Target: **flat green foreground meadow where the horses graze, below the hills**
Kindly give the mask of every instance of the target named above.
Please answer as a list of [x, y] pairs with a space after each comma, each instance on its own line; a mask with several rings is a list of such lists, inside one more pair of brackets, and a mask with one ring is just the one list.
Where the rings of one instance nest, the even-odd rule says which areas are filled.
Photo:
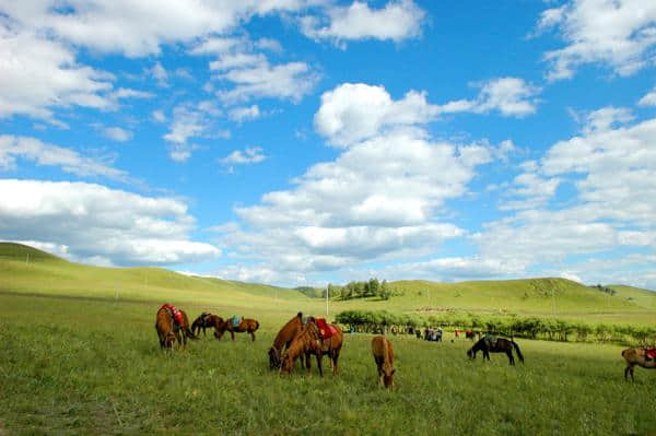
[[[649, 434], [656, 372], [625, 382], [620, 347], [520, 341], [526, 364], [469, 362], [465, 340], [391, 337], [396, 391], [371, 335], [347, 334], [337, 377], [268, 369], [285, 308], [254, 310], [256, 342], [160, 352], [157, 304], [0, 295], [4, 434]], [[232, 307], [231, 307], [232, 308]], [[243, 308], [246, 310], [246, 308]], [[191, 316], [199, 310], [189, 309]], [[313, 366], [314, 363], [313, 363]]]

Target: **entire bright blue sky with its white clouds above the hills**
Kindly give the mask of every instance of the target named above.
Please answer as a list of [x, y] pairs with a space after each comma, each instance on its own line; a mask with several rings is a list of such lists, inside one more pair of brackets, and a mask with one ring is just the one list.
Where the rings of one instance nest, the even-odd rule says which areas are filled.
[[656, 288], [656, 3], [0, 0], [0, 239]]

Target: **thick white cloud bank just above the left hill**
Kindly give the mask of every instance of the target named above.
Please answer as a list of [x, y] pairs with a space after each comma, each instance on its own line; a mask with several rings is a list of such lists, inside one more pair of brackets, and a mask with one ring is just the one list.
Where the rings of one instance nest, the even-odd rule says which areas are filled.
[[189, 239], [194, 217], [177, 199], [83, 182], [14, 179], [0, 179], [0, 239], [65, 247], [69, 258], [112, 264], [174, 264], [221, 255], [212, 245]]

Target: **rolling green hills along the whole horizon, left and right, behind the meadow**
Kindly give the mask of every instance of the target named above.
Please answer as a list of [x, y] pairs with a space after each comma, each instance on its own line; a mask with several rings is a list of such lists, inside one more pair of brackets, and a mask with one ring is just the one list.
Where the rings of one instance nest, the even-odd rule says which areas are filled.
[[[395, 296], [332, 299], [330, 314], [350, 309], [421, 315], [446, 310], [654, 323], [656, 293], [612, 285], [600, 292], [565, 279], [435, 283], [390, 282]], [[305, 291], [305, 292], [304, 292]], [[73, 263], [32, 247], [0, 243], [0, 292], [84, 298], [178, 302], [204, 307], [323, 314], [325, 302], [307, 290], [192, 276], [161, 268], [102, 268]]]

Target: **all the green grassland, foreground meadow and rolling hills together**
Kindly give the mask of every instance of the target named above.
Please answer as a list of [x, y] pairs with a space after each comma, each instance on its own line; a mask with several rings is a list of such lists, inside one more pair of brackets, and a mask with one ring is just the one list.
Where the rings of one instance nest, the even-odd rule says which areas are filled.
[[[652, 295], [629, 287], [613, 286], [611, 296], [560, 279], [391, 285], [403, 295], [333, 301], [330, 311], [551, 316], [555, 301], [571, 316], [654, 322]], [[191, 318], [207, 308], [255, 317], [257, 340], [208, 334], [186, 351], [163, 353], [153, 326], [165, 301]], [[505, 355], [468, 361], [471, 343], [450, 332], [443, 343], [390, 337], [397, 389], [387, 391], [375, 382], [372, 335], [345, 334], [337, 377], [329, 370], [318, 377], [314, 361], [312, 375], [297, 368], [281, 377], [268, 368], [273, 337], [298, 310], [321, 314], [321, 299], [155, 268], [81, 266], [10, 244], [0, 244], [0, 435], [646, 435], [656, 428], [656, 372], [637, 368], [635, 384], [624, 381], [617, 345], [518, 340], [526, 363], [511, 367]]]

